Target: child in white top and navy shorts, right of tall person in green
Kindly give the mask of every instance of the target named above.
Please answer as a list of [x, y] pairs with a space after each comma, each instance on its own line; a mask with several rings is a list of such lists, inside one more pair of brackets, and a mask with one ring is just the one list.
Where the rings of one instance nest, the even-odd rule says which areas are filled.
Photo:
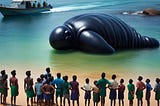
[[109, 95], [109, 99], [111, 100], [111, 106], [114, 102], [114, 106], [116, 105], [116, 97], [117, 97], [117, 88], [118, 88], [118, 83], [116, 81], [116, 75], [113, 74], [112, 75], [112, 80], [110, 81], [111, 84], [109, 85], [109, 89], [110, 89], [110, 95]]

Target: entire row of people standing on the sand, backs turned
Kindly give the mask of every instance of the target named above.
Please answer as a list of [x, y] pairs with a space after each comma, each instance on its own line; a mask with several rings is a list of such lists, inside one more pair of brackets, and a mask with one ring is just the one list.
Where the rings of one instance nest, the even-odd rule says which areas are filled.
[[[16, 70], [11, 71], [11, 75], [12, 77], [9, 79], [11, 105], [16, 105], [16, 97], [19, 95], [19, 84], [18, 79], [16, 78]], [[145, 89], [145, 99], [147, 101], [147, 106], [150, 106], [152, 89], [155, 92], [155, 100], [157, 101], [157, 106], [159, 106], [159, 78], [156, 78], [156, 84], [154, 88], [152, 88], [150, 79], [146, 79], [145, 84], [143, 82], [142, 76], [138, 77], [136, 86], [133, 84], [132, 79], [129, 79], [127, 86], [124, 85], [124, 79], [120, 79], [120, 83], [118, 84], [115, 74], [112, 75], [111, 80], [108, 80], [105, 77], [106, 74], [103, 72], [101, 74], [101, 78], [97, 81], [94, 81], [94, 86], [90, 84], [89, 78], [86, 78], [85, 84], [82, 87], [79, 87], [80, 85], [77, 81], [76, 75], [72, 76], [72, 81], [68, 81], [68, 76], [61, 77], [61, 73], [57, 73], [57, 76], [54, 79], [50, 72], [50, 68], [48, 67], [46, 68], [45, 74], [41, 74], [34, 84], [33, 78], [31, 77], [31, 71], [26, 71], [26, 78], [24, 79], [24, 90], [27, 96], [27, 106], [29, 106], [29, 103], [33, 105], [35, 98], [37, 106], [41, 106], [42, 104], [45, 104], [46, 106], [65, 106], [66, 104], [68, 104], [68, 106], [71, 106], [70, 100], [72, 101], [72, 106], [75, 106], [75, 102], [77, 106], [79, 106], [80, 89], [85, 92], [85, 106], [90, 106], [91, 96], [94, 106], [98, 106], [99, 102], [101, 106], [105, 106], [106, 89], [110, 90], [110, 106], [116, 106], [117, 98], [119, 100], [119, 106], [124, 106], [124, 91], [126, 90], [126, 87], [128, 90], [129, 106], [133, 106], [133, 99], [135, 98], [135, 96], [137, 98], [137, 106], [143, 105], [143, 91]], [[6, 74], [5, 70], [2, 70], [0, 76], [1, 104], [6, 104], [8, 89], [8, 75]]]

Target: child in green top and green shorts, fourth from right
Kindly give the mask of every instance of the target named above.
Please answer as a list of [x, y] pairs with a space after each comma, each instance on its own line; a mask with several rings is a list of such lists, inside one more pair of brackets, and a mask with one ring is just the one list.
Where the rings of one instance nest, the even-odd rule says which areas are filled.
[[133, 99], [134, 99], [134, 92], [135, 92], [135, 86], [132, 83], [133, 83], [133, 80], [129, 79], [129, 84], [127, 85], [129, 106], [133, 106]]

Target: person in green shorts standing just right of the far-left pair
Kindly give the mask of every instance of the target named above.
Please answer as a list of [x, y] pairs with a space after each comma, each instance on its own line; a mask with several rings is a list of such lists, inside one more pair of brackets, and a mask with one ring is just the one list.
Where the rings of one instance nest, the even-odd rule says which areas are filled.
[[10, 88], [11, 88], [11, 105], [13, 105], [13, 100], [14, 100], [14, 105], [16, 105], [16, 96], [18, 96], [18, 79], [15, 77], [16, 76], [16, 70], [11, 71], [12, 77], [10, 78]]

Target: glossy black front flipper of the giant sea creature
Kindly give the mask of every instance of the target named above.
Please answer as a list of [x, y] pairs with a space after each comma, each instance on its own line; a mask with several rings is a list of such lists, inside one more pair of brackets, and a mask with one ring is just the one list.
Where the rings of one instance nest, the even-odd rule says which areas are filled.
[[79, 38], [80, 48], [83, 51], [107, 54], [115, 52], [115, 49], [96, 32], [82, 31]]

